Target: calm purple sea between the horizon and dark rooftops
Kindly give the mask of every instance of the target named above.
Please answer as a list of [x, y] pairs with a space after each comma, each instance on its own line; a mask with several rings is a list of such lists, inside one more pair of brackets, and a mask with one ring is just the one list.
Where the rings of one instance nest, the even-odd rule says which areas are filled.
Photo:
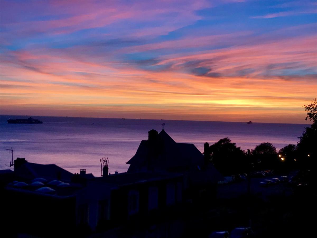
[[[87, 169], [100, 175], [101, 157], [109, 158], [109, 172], [125, 172], [126, 162], [135, 154], [148, 131], [165, 131], [176, 141], [194, 143], [203, 152], [204, 142], [217, 142], [229, 137], [242, 149], [254, 149], [261, 142], [271, 142], [280, 149], [298, 141], [305, 124], [277, 124], [246, 122], [200, 122], [172, 120], [139, 120], [111, 118], [77, 118], [34, 116], [43, 124], [8, 124], [9, 118], [0, 116], [0, 169], [8, 169], [11, 154], [25, 157], [29, 162], [55, 163], [72, 173]], [[11, 168], [12, 169], [12, 168]]]

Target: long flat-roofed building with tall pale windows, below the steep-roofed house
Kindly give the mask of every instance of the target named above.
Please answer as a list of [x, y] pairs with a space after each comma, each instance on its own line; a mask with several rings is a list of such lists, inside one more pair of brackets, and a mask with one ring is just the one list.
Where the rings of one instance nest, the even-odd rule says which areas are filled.
[[[144, 224], [164, 221], [182, 202], [182, 175], [168, 173], [120, 173], [94, 178], [92, 184], [112, 184], [108, 218], [98, 221], [98, 229], [113, 224], [128, 225], [141, 230]], [[144, 222], [146, 221], [146, 222]], [[127, 234], [123, 234], [126, 237]]]

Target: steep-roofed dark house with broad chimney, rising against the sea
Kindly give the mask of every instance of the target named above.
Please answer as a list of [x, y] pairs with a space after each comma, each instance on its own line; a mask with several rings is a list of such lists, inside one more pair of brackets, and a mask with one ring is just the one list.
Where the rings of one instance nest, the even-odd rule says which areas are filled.
[[[209, 146], [204, 144], [205, 148]], [[149, 131], [148, 140], [142, 140], [135, 155], [126, 162], [128, 173], [168, 172], [184, 176], [185, 190], [209, 189], [214, 193], [215, 185], [223, 180], [222, 175], [193, 144], [175, 142], [164, 129], [160, 133]]]

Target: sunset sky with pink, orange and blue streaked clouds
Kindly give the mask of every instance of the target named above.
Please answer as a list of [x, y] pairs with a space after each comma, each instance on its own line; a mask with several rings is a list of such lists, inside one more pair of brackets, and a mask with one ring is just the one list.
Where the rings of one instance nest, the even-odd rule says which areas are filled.
[[307, 123], [317, 2], [0, 1], [0, 114]]

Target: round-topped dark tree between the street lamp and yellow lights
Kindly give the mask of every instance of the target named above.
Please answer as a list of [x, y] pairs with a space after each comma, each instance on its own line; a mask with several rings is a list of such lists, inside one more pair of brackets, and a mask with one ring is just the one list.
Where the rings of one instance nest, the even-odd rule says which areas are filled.
[[258, 144], [251, 153], [258, 162], [258, 169], [275, 169], [279, 162], [276, 148], [269, 142]]

